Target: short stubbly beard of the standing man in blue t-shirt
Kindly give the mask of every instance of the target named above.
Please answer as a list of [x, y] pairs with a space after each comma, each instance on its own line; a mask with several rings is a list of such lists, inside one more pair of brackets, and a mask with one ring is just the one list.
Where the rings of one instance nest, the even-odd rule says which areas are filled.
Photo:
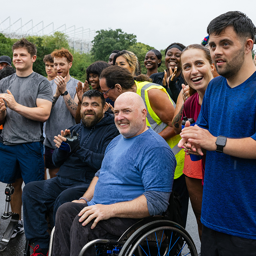
[[225, 78], [235, 77], [240, 70], [241, 66], [245, 61], [245, 52], [244, 49], [241, 48], [237, 54], [237, 56], [233, 57], [230, 62], [225, 63], [225, 68], [218, 68], [217, 63], [215, 62], [215, 67], [220, 76], [224, 76]]

